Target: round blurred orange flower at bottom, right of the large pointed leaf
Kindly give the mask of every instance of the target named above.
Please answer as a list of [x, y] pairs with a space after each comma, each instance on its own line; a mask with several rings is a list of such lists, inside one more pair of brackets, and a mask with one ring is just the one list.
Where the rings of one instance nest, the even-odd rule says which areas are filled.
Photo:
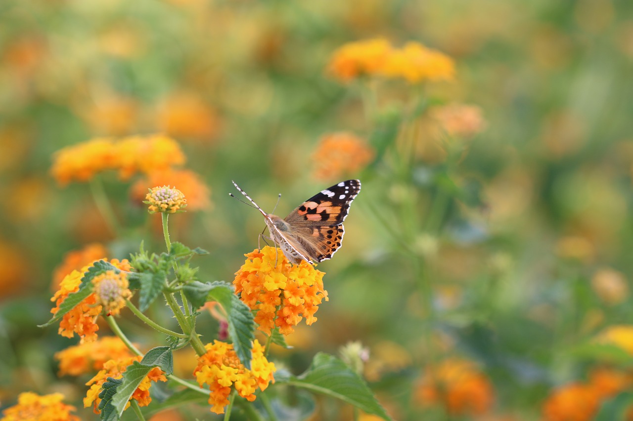
[[473, 362], [450, 358], [427, 367], [415, 397], [424, 406], [442, 405], [451, 415], [481, 415], [491, 408], [494, 391]]

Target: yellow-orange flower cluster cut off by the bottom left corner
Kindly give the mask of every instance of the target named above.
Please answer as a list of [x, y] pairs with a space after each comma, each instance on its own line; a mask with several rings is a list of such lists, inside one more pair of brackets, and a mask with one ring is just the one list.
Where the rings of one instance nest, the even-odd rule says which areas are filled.
[[63, 399], [61, 393], [20, 393], [18, 403], [6, 408], [0, 421], [79, 421], [79, 417], [70, 414], [76, 408], [62, 403]]

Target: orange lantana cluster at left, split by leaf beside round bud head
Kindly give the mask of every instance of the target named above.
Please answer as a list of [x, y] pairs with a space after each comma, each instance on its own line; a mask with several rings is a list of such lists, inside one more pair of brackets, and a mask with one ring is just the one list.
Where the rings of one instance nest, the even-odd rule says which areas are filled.
[[[110, 263], [122, 271], [130, 271], [131, 269], [127, 259], [121, 261], [112, 259]], [[81, 271], [72, 271], [61, 281], [60, 290], [51, 298], [51, 301], [55, 302], [55, 307], [51, 310], [51, 313], [57, 314], [60, 310], [60, 304], [66, 297], [79, 290], [81, 279], [87, 270], [88, 266], [85, 266]], [[76, 333], [81, 338], [80, 343], [95, 341], [99, 330], [96, 319], [101, 314], [101, 310], [103, 310], [103, 307], [97, 303], [97, 296], [94, 293], [87, 296], [61, 318], [60, 335], [72, 338]]]

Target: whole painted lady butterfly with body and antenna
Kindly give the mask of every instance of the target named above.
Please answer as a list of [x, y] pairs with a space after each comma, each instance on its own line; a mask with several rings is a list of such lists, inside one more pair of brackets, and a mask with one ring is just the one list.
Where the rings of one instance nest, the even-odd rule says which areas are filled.
[[313, 265], [332, 258], [341, 248], [343, 221], [349, 205], [360, 192], [359, 180], [346, 180], [309, 198], [281, 219], [267, 214], [233, 181], [233, 185], [248, 198], [264, 216], [266, 226], [275, 241], [292, 263], [305, 260]]

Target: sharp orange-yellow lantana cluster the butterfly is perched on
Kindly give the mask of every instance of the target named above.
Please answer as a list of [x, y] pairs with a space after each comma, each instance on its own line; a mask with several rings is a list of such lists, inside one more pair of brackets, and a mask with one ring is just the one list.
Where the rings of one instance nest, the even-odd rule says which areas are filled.
[[280, 248], [266, 246], [245, 256], [233, 283], [241, 300], [257, 310], [254, 320], [260, 331], [270, 334], [278, 326], [287, 335], [303, 317], [308, 325], [316, 321], [318, 305], [323, 298], [328, 300], [323, 289], [325, 273], [303, 260], [291, 265]]

